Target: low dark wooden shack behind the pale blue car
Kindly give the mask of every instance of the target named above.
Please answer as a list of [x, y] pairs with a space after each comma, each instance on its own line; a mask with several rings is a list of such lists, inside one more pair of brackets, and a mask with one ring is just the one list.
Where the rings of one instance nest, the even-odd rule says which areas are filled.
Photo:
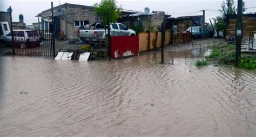
[[204, 22], [203, 15], [197, 16], [181, 16], [177, 18], [169, 18], [166, 20], [166, 29], [171, 29], [173, 26], [173, 32], [186, 31], [190, 26], [201, 26]]

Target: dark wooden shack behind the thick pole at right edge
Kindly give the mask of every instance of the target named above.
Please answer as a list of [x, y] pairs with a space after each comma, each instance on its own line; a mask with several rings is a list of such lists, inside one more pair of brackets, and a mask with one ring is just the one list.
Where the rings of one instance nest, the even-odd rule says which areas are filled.
[[[235, 24], [237, 15], [227, 15], [226, 18], [226, 39], [235, 38]], [[243, 39], [248, 39], [250, 31], [256, 32], [256, 13], [242, 15]]]

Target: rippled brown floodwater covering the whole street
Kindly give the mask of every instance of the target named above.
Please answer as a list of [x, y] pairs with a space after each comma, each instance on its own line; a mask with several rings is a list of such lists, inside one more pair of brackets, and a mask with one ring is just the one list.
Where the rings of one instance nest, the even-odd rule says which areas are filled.
[[190, 56], [0, 57], [0, 136], [255, 136], [256, 71]]

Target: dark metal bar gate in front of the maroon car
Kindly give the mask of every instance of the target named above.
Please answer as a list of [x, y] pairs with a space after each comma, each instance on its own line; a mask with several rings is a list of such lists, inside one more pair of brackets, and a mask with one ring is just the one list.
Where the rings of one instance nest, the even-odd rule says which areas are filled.
[[49, 30], [12, 31], [13, 52], [24, 56], [55, 56], [53, 33]]

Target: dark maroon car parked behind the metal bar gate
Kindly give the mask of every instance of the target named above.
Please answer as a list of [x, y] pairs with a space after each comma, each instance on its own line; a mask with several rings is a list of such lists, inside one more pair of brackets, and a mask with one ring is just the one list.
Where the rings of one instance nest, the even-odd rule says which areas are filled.
[[[20, 47], [25, 49], [31, 46], [40, 46], [41, 36], [35, 30], [14, 30], [12, 31], [14, 35], [14, 45], [15, 47]], [[11, 32], [5, 36], [4, 42], [6, 45], [12, 45]]]

